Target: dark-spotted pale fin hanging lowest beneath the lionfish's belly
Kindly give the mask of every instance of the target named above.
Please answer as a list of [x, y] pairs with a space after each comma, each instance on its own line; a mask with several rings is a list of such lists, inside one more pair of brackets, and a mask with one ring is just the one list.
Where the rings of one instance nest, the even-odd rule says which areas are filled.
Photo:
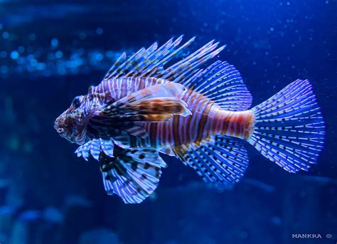
[[166, 164], [155, 149], [115, 147], [114, 157], [100, 154], [105, 191], [117, 194], [124, 203], [144, 201], [158, 186], [162, 167]]

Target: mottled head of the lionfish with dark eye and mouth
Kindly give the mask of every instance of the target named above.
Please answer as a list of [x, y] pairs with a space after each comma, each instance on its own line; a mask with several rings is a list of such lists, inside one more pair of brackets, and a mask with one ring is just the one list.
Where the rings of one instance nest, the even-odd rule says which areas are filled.
[[54, 128], [61, 137], [69, 142], [83, 144], [87, 132], [88, 103], [86, 96], [74, 98], [68, 110], [65, 110], [56, 120]]

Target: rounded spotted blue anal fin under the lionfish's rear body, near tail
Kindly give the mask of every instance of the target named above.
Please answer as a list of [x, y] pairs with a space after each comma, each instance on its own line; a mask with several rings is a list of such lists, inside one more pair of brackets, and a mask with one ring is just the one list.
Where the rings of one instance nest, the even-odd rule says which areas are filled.
[[200, 144], [174, 147], [173, 152], [208, 182], [233, 184], [241, 179], [248, 166], [245, 147], [232, 137], [213, 136]]

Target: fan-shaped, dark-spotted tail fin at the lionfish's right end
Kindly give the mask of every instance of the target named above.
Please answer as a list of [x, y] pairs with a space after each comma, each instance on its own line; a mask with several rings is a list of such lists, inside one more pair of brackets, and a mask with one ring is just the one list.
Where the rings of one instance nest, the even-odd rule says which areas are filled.
[[264, 157], [291, 173], [316, 164], [325, 130], [309, 80], [294, 81], [252, 111], [255, 127], [248, 142]]

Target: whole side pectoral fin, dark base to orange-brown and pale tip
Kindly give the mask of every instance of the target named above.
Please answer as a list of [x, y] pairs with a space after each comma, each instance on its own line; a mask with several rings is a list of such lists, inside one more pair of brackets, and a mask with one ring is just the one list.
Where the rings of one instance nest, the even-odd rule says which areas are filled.
[[186, 102], [180, 99], [185, 87], [166, 83], [153, 85], [132, 93], [121, 100], [103, 105], [90, 119], [90, 126], [99, 134], [120, 134], [146, 137], [144, 122], [171, 120], [173, 115], [188, 116]]

